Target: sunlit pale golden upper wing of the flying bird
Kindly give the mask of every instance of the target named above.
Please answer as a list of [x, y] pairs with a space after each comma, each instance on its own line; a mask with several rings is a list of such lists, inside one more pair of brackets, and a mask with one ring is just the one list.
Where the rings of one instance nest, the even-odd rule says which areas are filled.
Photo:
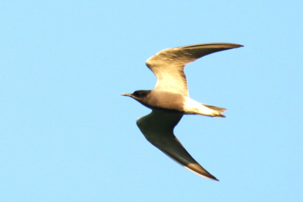
[[146, 65], [157, 77], [156, 90], [179, 93], [189, 97], [183, 71], [184, 66], [202, 56], [239, 47], [242, 45], [208, 43], [168, 48], [148, 58]]

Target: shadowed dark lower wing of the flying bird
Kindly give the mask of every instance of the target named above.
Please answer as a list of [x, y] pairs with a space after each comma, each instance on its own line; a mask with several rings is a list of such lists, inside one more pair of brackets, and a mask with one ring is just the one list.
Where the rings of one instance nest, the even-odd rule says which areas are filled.
[[207, 172], [191, 157], [175, 137], [173, 130], [182, 116], [183, 114], [179, 112], [153, 110], [150, 114], [139, 118], [137, 125], [151, 144], [171, 157], [178, 164], [202, 177], [217, 180], [217, 178]]

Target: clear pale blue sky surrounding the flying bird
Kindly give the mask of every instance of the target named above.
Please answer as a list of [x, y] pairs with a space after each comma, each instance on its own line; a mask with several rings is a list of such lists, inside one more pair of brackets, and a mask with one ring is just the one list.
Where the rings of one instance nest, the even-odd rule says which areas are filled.
[[[1, 1], [1, 201], [302, 201], [302, 1]], [[245, 47], [186, 66], [175, 135], [220, 182], [146, 141], [145, 61], [178, 46]]]

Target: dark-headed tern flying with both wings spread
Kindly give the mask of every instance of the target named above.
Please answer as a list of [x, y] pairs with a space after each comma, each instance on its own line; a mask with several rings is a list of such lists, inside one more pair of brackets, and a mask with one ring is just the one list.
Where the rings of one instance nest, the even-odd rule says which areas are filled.
[[150, 114], [138, 118], [136, 122], [151, 144], [178, 164], [211, 180], [219, 181], [185, 150], [174, 135], [174, 127], [184, 114], [224, 118], [222, 113], [226, 109], [202, 104], [189, 98], [184, 66], [205, 55], [239, 47], [242, 45], [207, 43], [162, 50], [146, 61], [147, 67], [157, 77], [155, 88], [121, 94], [134, 98], [152, 110]]

